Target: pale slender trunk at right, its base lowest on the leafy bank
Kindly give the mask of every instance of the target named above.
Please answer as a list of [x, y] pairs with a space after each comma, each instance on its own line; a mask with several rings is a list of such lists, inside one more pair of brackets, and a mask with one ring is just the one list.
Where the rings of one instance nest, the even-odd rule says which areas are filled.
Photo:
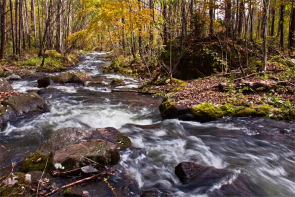
[[266, 42], [267, 42], [267, 18], [268, 18], [268, 11], [269, 11], [269, 1], [270, 0], [263, 0], [263, 70], [266, 71], [267, 69], [267, 47], [266, 47]]

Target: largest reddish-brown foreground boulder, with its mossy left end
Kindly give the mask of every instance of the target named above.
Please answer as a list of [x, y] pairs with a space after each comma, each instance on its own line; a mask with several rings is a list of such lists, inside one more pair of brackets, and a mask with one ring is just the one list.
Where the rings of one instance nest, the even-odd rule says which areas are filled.
[[[96, 170], [89, 164], [93, 164], [98, 171], [101, 165], [116, 164], [119, 159], [118, 151], [130, 146], [130, 139], [111, 127], [60, 129], [54, 131], [47, 142], [21, 162], [20, 170], [25, 173], [43, 170], [48, 158], [45, 171], [52, 172], [53, 175], [89, 173], [91, 170], [95, 172]], [[101, 165], [96, 165], [85, 158]], [[78, 170], [65, 173], [75, 168]]]

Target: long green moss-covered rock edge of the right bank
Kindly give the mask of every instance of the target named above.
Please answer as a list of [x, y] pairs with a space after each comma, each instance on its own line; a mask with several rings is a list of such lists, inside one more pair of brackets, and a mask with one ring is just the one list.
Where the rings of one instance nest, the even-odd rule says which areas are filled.
[[231, 103], [211, 104], [201, 103], [192, 107], [177, 105], [172, 99], [164, 99], [160, 105], [163, 118], [178, 118], [181, 120], [193, 120], [200, 122], [213, 121], [222, 117], [266, 117], [273, 119], [295, 120], [295, 109], [276, 108], [268, 104], [248, 104], [236, 106]]

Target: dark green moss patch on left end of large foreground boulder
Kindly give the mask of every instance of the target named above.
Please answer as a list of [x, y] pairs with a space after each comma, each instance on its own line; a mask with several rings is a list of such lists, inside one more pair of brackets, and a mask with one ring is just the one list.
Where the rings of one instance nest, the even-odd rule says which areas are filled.
[[23, 161], [20, 164], [20, 171], [25, 173], [33, 170], [43, 171], [46, 165], [47, 157], [49, 158], [45, 171], [49, 172], [53, 168], [53, 157], [52, 155], [46, 156], [39, 152], [35, 152], [32, 156]]

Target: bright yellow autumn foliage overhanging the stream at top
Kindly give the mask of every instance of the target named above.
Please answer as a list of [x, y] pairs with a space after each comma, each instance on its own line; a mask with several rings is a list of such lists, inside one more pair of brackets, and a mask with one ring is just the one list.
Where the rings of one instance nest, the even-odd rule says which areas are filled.
[[152, 11], [142, 9], [138, 0], [81, 0], [81, 17], [88, 16], [89, 25], [85, 30], [69, 35], [71, 43], [95, 43], [109, 39], [118, 41], [122, 31], [126, 34], [148, 36], [151, 31]]

